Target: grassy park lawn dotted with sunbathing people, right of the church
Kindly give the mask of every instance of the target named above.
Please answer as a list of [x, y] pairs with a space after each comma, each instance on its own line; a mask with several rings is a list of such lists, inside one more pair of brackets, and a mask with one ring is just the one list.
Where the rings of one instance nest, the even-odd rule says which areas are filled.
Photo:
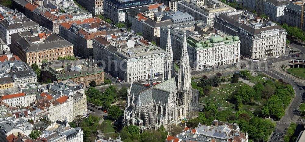
[[235, 91], [236, 87], [241, 86], [243, 83], [228, 83], [222, 84], [218, 87], [212, 87], [211, 94], [209, 96], [201, 97], [199, 103], [206, 104], [207, 102], [212, 102], [218, 107], [232, 108], [235, 104], [228, 103], [228, 98]]

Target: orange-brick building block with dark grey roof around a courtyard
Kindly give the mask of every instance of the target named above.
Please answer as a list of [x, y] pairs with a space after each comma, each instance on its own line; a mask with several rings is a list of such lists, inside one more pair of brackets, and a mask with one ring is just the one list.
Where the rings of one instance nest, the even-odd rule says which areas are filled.
[[11, 38], [12, 52], [29, 65], [74, 56], [73, 44], [43, 27], [14, 33]]

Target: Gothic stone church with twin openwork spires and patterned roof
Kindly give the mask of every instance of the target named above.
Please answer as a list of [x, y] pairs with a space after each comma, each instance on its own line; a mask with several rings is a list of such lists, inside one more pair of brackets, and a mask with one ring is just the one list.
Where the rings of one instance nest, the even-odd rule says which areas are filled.
[[197, 111], [199, 92], [192, 90], [191, 87], [186, 35], [184, 35], [178, 76], [174, 76], [170, 33], [167, 41], [163, 82], [153, 86], [153, 71], [151, 71], [150, 86], [131, 83], [131, 87], [127, 88], [123, 126], [135, 125], [143, 131], [158, 129], [163, 125], [169, 130], [172, 124], [189, 118], [190, 112]]

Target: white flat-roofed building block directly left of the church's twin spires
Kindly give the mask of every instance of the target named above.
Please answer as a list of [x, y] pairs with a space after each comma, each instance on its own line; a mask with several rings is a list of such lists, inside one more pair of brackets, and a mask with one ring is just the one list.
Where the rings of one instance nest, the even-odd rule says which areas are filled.
[[126, 82], [149, 79], [151, 64], [153, 75], [162, 74], [165, 51], [153, 45], [137, 43], [140, 44], [132, 48], [118, 47], [103, 37], [97, 37], [93, 40], [93, 59], [103, 61], [106, 71]]

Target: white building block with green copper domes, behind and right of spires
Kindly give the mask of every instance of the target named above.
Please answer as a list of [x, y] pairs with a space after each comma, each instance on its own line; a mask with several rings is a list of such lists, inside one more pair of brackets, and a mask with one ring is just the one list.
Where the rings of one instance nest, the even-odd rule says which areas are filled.
[[165, 39], [169, 31], [175, 60], [180, 59], [177, 57], [181, 54], [180, 45], [183, 43], [183, 30], [187, 30], [188, 55], [192, 68], [197, 70], [239, 62], [241, 43], [239, 37], [211, 29], [203, 21], [172, 25], [170, 28], [161, 27], [160, 47], [166, 47], [167, 41]]

